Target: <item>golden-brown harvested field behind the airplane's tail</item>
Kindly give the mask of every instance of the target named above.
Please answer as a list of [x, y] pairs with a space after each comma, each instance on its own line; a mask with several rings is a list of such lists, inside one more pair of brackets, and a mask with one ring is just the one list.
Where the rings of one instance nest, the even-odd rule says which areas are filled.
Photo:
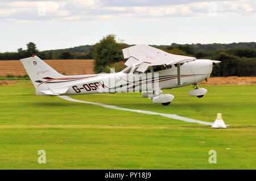
[[[93, 74], [94, 60], [46, 60], [53, 69], [65, 75]], [[19, 60], [0, 61], [0, 76], [27, 74]]]

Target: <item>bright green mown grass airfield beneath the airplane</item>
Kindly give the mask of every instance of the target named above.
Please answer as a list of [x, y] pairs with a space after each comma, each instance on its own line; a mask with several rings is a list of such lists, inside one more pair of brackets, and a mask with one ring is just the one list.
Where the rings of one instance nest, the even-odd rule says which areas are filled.
[[0, 86], [0, 169], [256, 169], [256, 85], [200, 87], [201, 99], [191, 86], [164, 90], [175, 95], [169, 106], [140, 93], [71, 97], [208, 122], [221, 112], [229, 128], [36, 96], [30, 81]]

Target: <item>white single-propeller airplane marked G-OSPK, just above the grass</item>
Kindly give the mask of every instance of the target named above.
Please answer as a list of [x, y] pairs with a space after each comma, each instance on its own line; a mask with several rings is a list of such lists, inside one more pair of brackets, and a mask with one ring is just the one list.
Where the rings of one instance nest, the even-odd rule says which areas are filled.
[[[135, 45], [123, 49], [127, 68], [118, 73], [67, 76], [57, 73], [37, 56], [21, 59], [36, 95], [77, 95], [142, 91], [143, 97], [153, 103], [167, 106], [174, 99], [162, 89], [193, 85], [190, 96], [203, 97], [207, 90], [197, 83], [212, 73], [216, 60], [198, 60], [195, 57], [170, 54], [148, 45]], [[79, 66], [79, 65], [77, 65]]]

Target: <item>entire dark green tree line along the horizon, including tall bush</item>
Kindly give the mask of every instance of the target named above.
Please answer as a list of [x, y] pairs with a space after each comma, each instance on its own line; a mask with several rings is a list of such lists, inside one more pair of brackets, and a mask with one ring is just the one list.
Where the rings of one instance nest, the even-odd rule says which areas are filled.
[[[256, 48], [254, 42], [233, 44], [171, 44], [151, 45], [168, 53], [192, 56], [200, 59], [221, 61], [213, 68], [212, 76], [255, 76]], [[96, 73], [109, 72], [110, 68], [120, 71], [123, 65], [122, 49], [132, 45], [117, 43], [114, 35], [103, 37], [95, 45], [85, 45], [69, 49], [39, 51], [32, 42], [27, 49], [19, 48], [17, 52], [0, 53], [0, 60], [19, 60], [36, 54], [43, 60], [51, 59], [94, 59]]]

